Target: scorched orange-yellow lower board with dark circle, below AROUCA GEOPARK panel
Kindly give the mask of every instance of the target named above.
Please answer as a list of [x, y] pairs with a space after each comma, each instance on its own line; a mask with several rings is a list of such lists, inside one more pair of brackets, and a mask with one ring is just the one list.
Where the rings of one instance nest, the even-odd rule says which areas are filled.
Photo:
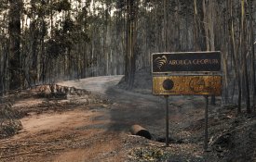
[[221, 95], [222, 76], [183, 75], [153, 77], [153, 94]]

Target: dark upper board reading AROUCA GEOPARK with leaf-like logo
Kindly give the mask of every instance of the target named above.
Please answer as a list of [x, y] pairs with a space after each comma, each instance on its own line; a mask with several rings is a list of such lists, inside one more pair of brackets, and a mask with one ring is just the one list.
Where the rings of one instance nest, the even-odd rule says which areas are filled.
[[218, 72], [221, 71], [221, 63], [218, 51], [155, 53], [152, 54], [152, 73]]

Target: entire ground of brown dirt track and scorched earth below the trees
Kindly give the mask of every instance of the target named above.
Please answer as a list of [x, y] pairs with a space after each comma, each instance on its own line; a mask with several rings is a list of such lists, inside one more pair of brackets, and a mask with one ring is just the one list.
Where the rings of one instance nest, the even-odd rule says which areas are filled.
[[[122, 76], [106, 76], [60, 82], [61, 96], [46, 86], [9, 99], [22, 127], [0, 140], [0, 161], [256, 161], [255, 114], [237, 116], [221, 98], [209, 106], [205, 152], [204, 97], [169, 97], [165, 147], [165, 100], [151, 94], [150, 71], [137, 75], [129, 91]], [[131, 135], [133, 124], [152, 140]]]

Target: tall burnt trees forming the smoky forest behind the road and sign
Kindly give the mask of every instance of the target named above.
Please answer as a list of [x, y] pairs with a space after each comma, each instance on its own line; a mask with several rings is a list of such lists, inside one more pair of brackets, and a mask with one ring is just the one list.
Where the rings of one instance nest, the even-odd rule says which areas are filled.
[[1, 95], [117, 74], [131, 89], [152, 53], [221, 51], [223, 102], [255, 107], [254, 0], [1, 0], [0, 13]]

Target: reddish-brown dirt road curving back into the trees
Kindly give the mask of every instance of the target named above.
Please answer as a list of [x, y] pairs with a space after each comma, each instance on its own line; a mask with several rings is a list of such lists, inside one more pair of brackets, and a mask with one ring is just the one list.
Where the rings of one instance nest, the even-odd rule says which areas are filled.
[[[130, 136], [128, 130], [133, 124], [140, 124], [152, 132], [155, 140], [163, 139], [164, 98], [116, 89], [114, 85], [121, 78], [106, 76], [60, 82], [60, 85], [101, 94], [110, 102], [31, 113], [21, 119], [23, 129], [19, 134], [0, 141], [0, 161], [126, 161], [131, 150], [143, 143], [163, 145]], [[170, 136], [177, 141], [188, 139], [192, 134], [185, 128], [203, 118], [202, 99], [193, 100], [183, 96], [170, 98]], [[194, 150], [198, 159], [203, 155], [201, 146], [202, 143], [185, 145]], [[176, 150], [173, 152], [182, 153], [181, 145], [171, 147]]]

